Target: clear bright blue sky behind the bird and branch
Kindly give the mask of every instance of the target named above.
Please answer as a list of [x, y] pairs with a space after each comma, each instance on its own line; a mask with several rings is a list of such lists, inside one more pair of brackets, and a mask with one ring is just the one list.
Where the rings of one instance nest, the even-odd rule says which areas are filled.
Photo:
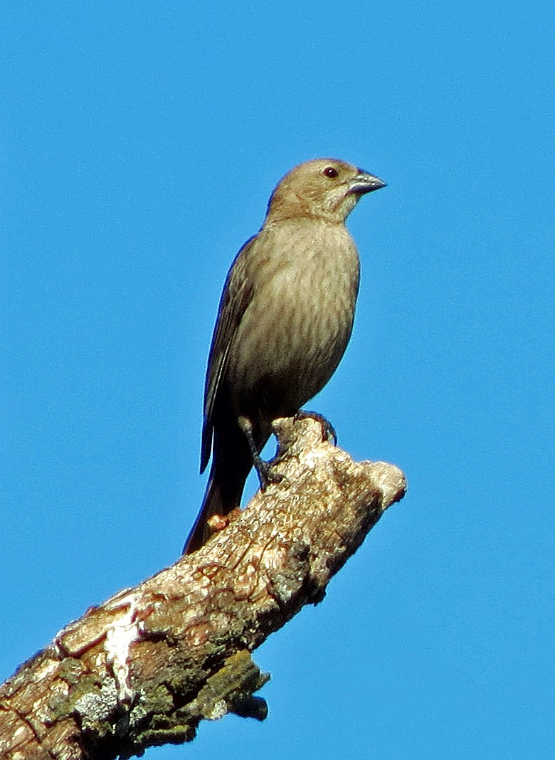
[[310, 407], [408, 496], [256, 653], [268, 720], [147, 757], [553, 756], [553, 16], [5, 2], [2, 678], [179, 555], [227, 268], [331, 155], [388, 186]]

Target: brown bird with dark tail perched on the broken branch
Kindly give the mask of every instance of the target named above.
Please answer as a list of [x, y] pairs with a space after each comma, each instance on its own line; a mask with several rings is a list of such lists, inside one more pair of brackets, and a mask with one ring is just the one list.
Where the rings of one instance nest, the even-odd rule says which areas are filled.
[[362, 195], [385, 182], [350, 163], [319, 158], [291, 169], [264, 224], [227, 274], [208, 357], [201, 473], [210, 479], [183, 549], [211, 535], [207, 519], [239, 506], [277, 417], [293, 416], [335, 372], [353, 328], [357, 248], [345, 227]]

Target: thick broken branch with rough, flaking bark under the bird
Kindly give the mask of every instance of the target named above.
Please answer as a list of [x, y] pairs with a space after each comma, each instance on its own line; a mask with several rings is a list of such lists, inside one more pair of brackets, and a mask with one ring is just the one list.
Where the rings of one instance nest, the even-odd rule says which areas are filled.
[[198, 552], [62, 629], [0, 688], [0, 758], [107, 760], [191, 741], [203, 718], [262, 720], [250, 652], [305, 604], [406, 489], [316, 420], [276, 420], [281, 483]]

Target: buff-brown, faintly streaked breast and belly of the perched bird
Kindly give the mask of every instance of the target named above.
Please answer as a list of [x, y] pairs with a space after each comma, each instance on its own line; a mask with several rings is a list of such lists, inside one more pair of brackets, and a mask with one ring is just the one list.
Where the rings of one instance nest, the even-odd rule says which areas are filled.
[[272, 230], [254, 253], [246, 268], [252, 299], [227, 379], [239, 410], [262, 400], [278, 416], [306, 404], [338, 366], [353, 327], [359, 258], [344, 225], [322, 223]]

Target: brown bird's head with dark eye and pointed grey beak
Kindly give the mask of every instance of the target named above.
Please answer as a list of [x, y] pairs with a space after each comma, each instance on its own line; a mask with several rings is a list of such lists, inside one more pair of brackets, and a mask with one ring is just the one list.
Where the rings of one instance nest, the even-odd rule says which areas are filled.
[[385, 186], [379, 177], [335, 158], [300, 163], [287, 173], [271, 194], [268, 221], [316, 217], [342, 223], [361, 195]]

